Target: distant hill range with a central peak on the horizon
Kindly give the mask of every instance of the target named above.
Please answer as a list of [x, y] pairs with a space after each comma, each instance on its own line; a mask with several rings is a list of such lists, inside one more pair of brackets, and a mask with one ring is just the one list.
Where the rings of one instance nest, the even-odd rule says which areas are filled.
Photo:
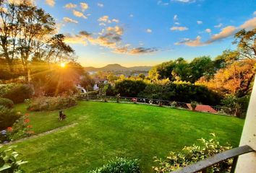
[[133, 66], [133, 67], [124, 67], [120, 64], [108, 64], [101, 68], [95, 68], [92, 66], [85, 67], [85, 71], [149, 71], [152, 66]]

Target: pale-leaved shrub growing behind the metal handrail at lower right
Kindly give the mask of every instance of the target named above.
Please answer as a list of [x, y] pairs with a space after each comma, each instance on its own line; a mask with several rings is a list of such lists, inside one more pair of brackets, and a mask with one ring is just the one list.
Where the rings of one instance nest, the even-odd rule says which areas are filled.
[[[158, 166], [153, 167], [154, 171], [157, 173], [172, 172], [232, 148], [229, 145], [221, 146], [214, 133], [211, 133], [211, 136], [213, 138], [208, 141], [203, 138], [199, 139], [202, 143], [201, 146], [196, 146], [195, 144], [193, 146], [185, 146], [182, 152], [170, 152], [166, 159], [155, 157], [155, 162]], [[229, 172], [231, 164], [232, 159], [228, 159], [209, 167], [207, 172]]]

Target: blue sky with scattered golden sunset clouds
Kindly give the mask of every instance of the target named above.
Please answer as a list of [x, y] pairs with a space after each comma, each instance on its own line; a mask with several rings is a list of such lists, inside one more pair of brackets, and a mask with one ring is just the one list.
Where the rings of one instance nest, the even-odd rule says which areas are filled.
[[153, 66], [215, 58], [256, 27], [255, 0], [35, 0], [82, 66]]

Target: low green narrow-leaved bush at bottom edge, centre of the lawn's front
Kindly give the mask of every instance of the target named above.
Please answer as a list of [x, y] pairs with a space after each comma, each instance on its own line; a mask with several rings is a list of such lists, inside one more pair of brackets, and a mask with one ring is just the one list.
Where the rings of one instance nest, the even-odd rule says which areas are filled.
[[90, 173], [140, 173], [140, 166], [137, 159], [116, 158]]

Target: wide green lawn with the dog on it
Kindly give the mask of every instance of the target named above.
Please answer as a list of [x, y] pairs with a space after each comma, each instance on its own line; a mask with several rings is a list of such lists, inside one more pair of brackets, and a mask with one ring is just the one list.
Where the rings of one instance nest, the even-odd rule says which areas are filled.
[[[25, 105], [17, 110], [26, 112]], [[30, 112], [35, 133], [64, 125], [74, 127], [16, 143], [29, 161], [27, 172], [87, 172], [116, 156], [140, 159], [142, 171], [152, 172], [153, 156], [166, 156], [216, 133], [221, 143], [238, 146], [244, 120], [166, 107], [104, 102], [79, 102], [64, 110]]]

